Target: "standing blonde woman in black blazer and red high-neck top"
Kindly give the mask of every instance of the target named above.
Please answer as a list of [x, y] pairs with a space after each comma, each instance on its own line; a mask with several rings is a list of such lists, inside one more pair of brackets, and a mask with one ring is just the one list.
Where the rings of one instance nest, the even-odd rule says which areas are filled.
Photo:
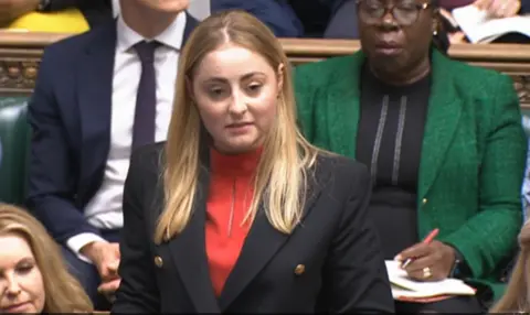
[[167, 142], [131, 158], [113, 313], [392, 313], [367, 169], [300, 135], [273, 33], [211, 15], [176, 90]]

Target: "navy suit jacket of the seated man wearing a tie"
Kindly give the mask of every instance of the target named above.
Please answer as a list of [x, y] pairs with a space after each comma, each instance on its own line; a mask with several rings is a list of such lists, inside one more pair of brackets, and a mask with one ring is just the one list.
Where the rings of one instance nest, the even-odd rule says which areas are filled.
[[[183, 41], [198, 24], [188, 14]], [[49, 46], [29, 106], [28, 208], [59, 242], [99, 235], [84, 218], [110, 146], [116, 21]], [[176, 69], [177, 70], [177, 69]]]

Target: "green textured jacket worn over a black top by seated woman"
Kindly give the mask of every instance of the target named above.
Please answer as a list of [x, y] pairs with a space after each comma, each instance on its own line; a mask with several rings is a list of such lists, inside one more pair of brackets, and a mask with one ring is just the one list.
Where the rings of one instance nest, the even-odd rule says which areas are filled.
[[[317, 146], [356, 156], [362, 52], [295, 69], [298, 121]], [[471, 282], [500, 297], [502, 261], [517, 247], [526, 137], [512, 80], [432, 54], [433, 86], [418, 175], [418, 239], [439, 228]], [[360, 134], [359, 137], [362, 137]]]

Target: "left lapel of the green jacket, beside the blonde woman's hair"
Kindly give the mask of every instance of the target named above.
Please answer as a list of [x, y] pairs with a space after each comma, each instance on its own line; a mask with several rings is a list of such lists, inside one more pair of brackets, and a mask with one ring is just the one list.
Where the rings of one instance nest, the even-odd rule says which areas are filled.
[[[343, 70], [326, 90], [328, 150], [349, 158], [356, 156], [357, 130], [360, 116], [360, 74], [364, 54], [344, 57]], [[333, 75], [337, 76], [337, 75]], [[319, 145], [319, 143], [317, 143]]]

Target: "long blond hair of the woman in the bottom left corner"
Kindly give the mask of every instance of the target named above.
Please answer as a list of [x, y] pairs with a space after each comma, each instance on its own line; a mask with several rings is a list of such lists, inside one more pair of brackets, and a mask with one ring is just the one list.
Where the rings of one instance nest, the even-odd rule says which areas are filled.
[[45, 301], [43, 313], [88, 313], [92, 302], [81, 284], [68, 273], [61, 250], [45, 228], [25, 210], [0, 204], [0, 236], [25, 239], [41, 271]]

